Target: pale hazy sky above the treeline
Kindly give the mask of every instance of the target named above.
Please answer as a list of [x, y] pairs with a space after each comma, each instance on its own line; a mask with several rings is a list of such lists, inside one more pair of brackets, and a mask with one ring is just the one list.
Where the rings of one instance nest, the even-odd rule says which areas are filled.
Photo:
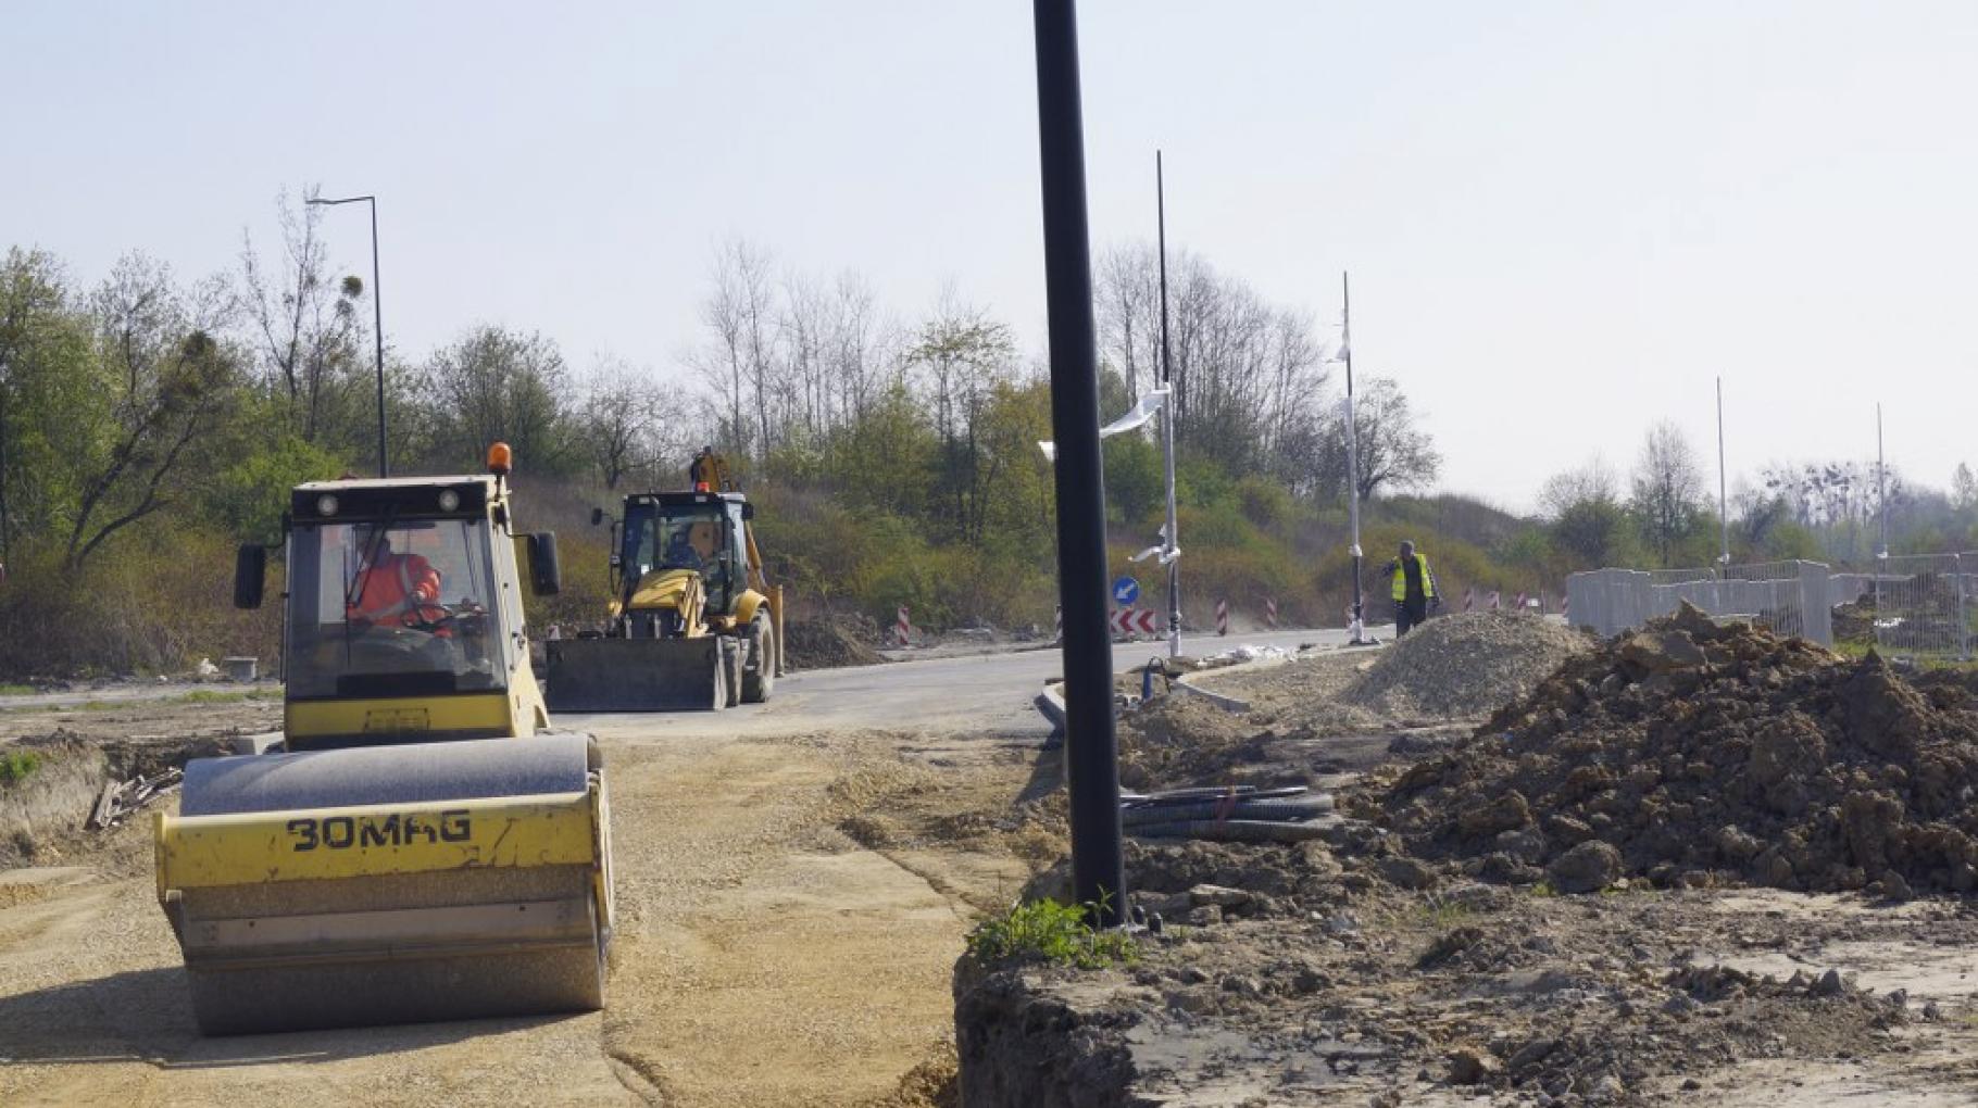
[[[1529, 507], [1671, 417], [1731, 471], [1972, 457], [1978, 4], [1082, 4], [1094, 245], [1153, 233], [1402, 380], [1444, 487]], [[386, 332], [674, 374], [732, 235], [944, 283], [1042, 346], [1031, 6], [0, 0], [0, 247], [95, 281], [376, 192]], [[364, 271], [362, 208], [326, 218]], [[1711, 457], [1711, 485], [1715, 461]]]

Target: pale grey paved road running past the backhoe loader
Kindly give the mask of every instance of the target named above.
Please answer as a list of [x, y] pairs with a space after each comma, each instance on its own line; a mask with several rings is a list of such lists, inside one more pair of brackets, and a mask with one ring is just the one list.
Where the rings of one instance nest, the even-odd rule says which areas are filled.
[[[1191, 635], [1181, 649], [1213, 655], [1238, 645], [1298, 649], [1302, 643], [1341, 645], [1343, 629]], [[1114, 669], [1125, 671], [1161, 655], [1165, 643], [1114, 645]], [[556, 726], [619, 742], [665, 742], [700, 734], [797, 734], [807, 730], [995, 732], [1036, 734], [1050, 726], [1033, 700], [1046, 679], [1064, 671], [1056, 649], [896, 661], [851, 669], [791, 673], [777, 681], [767, 704], [722, 712], [570, 714]]]

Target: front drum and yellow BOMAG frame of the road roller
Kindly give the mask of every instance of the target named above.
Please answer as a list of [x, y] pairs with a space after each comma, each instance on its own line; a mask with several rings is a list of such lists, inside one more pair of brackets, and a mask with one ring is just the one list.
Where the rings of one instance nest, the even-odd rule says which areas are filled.
[[208, 1035], [603, 1007], [584, 736], [196, 760], [156, 831]]

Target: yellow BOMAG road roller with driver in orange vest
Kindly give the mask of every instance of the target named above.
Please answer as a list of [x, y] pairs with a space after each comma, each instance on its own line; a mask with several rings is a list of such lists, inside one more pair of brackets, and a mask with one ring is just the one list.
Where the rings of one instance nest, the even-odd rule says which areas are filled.
[[[487, 475], [301, 485], [287, 532], [279, 752], [186, 766], [158, 900], [208, 1035], [603, 1005], [605, 782], [546, 734], [508, 447]], [[267, 548], [233, 600], [261, 603]]]

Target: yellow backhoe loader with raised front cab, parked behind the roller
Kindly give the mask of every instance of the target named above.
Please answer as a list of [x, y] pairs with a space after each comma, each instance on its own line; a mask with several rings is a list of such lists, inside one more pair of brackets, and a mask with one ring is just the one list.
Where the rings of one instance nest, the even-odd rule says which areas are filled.
[[552, 708], [712, 710], [767, 700], [775, 689], [783, 590], [764, 576], [756, 508], [712, 449], [688, 479], [688, 493], [625, 497], [605, 631], [546, 643]]

